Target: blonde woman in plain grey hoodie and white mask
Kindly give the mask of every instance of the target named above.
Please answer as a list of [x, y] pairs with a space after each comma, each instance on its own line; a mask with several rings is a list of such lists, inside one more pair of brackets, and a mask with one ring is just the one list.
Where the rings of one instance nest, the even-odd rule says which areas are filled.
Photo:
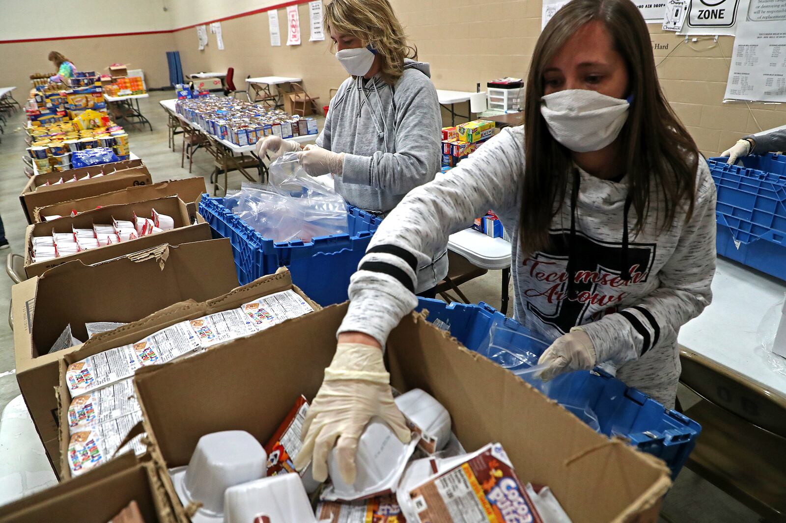
[[[300, 151], [308, 174], [332, 174], [347, 203], [384, 216], [440, 169], [442, 113], [430, 68], [415, 61], [417, 49], [387, 0], [333, 0], [325, 6], [325, 27], [351, 76], [330, 101], [317, 146], [302, 150], [269, 136], [257, 152], [274, 158]], [[417, 291], [433, 297], [447, 273], [444, 246], [417, 269]]]

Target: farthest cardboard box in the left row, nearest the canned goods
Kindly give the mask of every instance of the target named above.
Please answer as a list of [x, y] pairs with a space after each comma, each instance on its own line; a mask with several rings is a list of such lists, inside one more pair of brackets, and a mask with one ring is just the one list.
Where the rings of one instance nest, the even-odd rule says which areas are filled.
[[[46, 181], [57, 181], [63, 176], [84, 177], [86, 174], [109, 174], [95, 179], [74, 181], [69, 184], [43, 186]], [[112, 173], [112, 174], [110, 174]], [[81, 167], [63, 171], [62, 173], [36, 174], [28, 180], [19, 196], [24, 215], [28, 223], [33, 223], [36, 207], [46, 207], [53, 203], [65, 202], [70, 199], [96, 196], [105, 192], [119, 191], [134, 185], [149, 185], [152, 178], [141, 159], [123, 162], [105, 163], [103, 165]]]

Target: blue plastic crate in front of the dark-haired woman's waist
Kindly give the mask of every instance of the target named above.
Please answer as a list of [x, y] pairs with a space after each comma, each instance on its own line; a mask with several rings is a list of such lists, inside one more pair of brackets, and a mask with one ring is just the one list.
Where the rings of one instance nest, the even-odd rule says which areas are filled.
[[[420, 298], [417, 309], [427, 309], [429, 321], [441, 320], [448, 324], [450, 334], [470, 350], [481, 346], [494, 320], [501, 320], [511, 331], [529, 334], [527, 327], [483, 302], [448, 305]], [[529, 340], [527, 346], [520, 348], [539, 356], [546, 346], [543, 342]], [[626, 386], [600, 369], [557, 377], [553, 380], [550, 396], [560, 403], [588, 403], [597, 415], [601, 433], [626, 437], [641, 451], [663, 459], [672, 477], [677, 477], [701, 432], [701, 426], [692, 419], [664, 408], [645, 393]]]

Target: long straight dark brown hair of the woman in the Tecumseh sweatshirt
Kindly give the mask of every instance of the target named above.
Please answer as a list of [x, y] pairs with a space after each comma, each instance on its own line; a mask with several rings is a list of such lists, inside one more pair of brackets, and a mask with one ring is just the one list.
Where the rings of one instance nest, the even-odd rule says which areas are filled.
[[636, 212], [634, 232], [644, 227], [652, 194], [663, 195], [663, 207], [656, 205], [661, 230], [671, 225], [682, 203], [687, 203], [688, 217], [692, 214], [699, 151], [660, 90], [647, 24], [630, 0], [572, 0], [543, 29], [527, 77], [520, 218], [526, 254], [549, 246], [549, 226], [564, 202], [572, 165], [571, 152], [552, 137], [540, 112], [543, 72], [560, 47], [594, 20], [604, 24], [625, 60], [633, 95], [619, 139]]

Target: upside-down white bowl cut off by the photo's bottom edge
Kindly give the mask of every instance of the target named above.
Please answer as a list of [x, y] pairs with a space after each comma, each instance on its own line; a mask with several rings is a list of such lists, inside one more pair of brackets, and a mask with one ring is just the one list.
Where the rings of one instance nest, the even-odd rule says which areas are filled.
[[[277, 474], [235, 485], [224, 493], [225, 523], [316, 523], [299, 474]], [[260, 520], [257, 520], [260, 518]]]

